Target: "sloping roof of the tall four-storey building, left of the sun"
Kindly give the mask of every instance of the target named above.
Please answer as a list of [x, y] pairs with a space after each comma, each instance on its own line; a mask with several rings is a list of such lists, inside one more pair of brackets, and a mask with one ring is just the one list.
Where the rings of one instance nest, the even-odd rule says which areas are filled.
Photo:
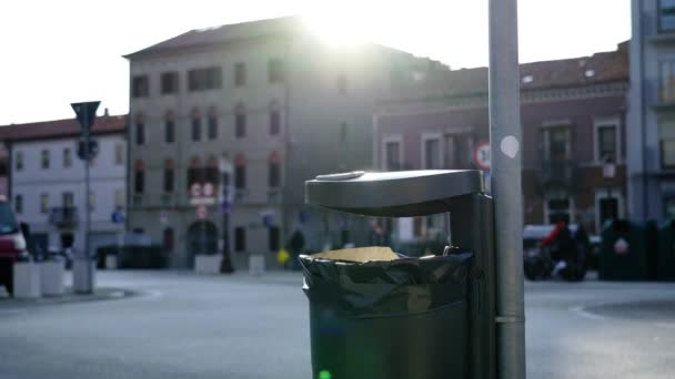
[[205, 29], [193, 29], [149, 48], [127, 54], [124, 58], [130, 59], [185, 48], [215, 45], [243, 39], [283, 34], [298, 30], [300, 24], [300, 18], [298, 17], [282, 17]]

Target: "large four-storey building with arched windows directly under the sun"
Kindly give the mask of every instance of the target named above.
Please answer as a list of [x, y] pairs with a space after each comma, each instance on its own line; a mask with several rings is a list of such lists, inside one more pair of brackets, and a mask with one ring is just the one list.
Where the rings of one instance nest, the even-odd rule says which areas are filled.
[[[310, 249], [331, 231], [357, 229], [306, 207], [304, 181], [371, 167], [375, 100], [396, 69], [434, 64], [376, 45], [333, 50], [295, 18], [192, 30], [127, 58], [128, 227], [172, 250], [179, 267], [222, 248], [222, 166], [232, 167], [228, 234], [239, 267], [250, 254], [273, 264], [294, 229]], [[214, 186], [215, 204], [191, 205], [195, 183]]]

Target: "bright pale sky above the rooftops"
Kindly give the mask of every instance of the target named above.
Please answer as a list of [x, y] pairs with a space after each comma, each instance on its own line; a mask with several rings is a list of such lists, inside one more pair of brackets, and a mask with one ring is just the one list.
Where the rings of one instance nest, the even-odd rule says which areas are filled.
[[[21, 0], [0, 12], [0, 125], [67, 119], [71, 102], [129, 110], [123, 54], [191, 29], [300, 14], [453, 69], [487, 64], [487, 0]], [[520, 59], [609, 51], [631, 38], [631, 0], [520, 0]]]

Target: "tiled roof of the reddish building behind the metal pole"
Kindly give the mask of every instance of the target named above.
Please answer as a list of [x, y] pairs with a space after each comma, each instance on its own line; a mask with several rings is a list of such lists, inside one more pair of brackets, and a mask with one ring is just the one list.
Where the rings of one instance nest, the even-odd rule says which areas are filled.
[[[521, 90], [544, 90], [581, 86], [615, 81], [628, 82], [628, 52], [626, 42], [609, 52], [520, 65]], [[407, 93], [396, 98], [444, 94], [471, 95], [487, 93], [487, 68], [461, 69], [427, 74], [406, 84]]]

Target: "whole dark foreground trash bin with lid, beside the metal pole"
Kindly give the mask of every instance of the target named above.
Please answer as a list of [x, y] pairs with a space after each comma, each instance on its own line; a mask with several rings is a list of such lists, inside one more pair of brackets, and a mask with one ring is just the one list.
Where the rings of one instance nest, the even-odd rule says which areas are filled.
[[496, 378], [495, 325], [511, 319], [495, 314], [493, 207], [480, 172], [322, 175], [305, 182], [305, 201], [370, 217], [446, 214], [452, 236], [431, 257], [301, 258], [314, 378]]

